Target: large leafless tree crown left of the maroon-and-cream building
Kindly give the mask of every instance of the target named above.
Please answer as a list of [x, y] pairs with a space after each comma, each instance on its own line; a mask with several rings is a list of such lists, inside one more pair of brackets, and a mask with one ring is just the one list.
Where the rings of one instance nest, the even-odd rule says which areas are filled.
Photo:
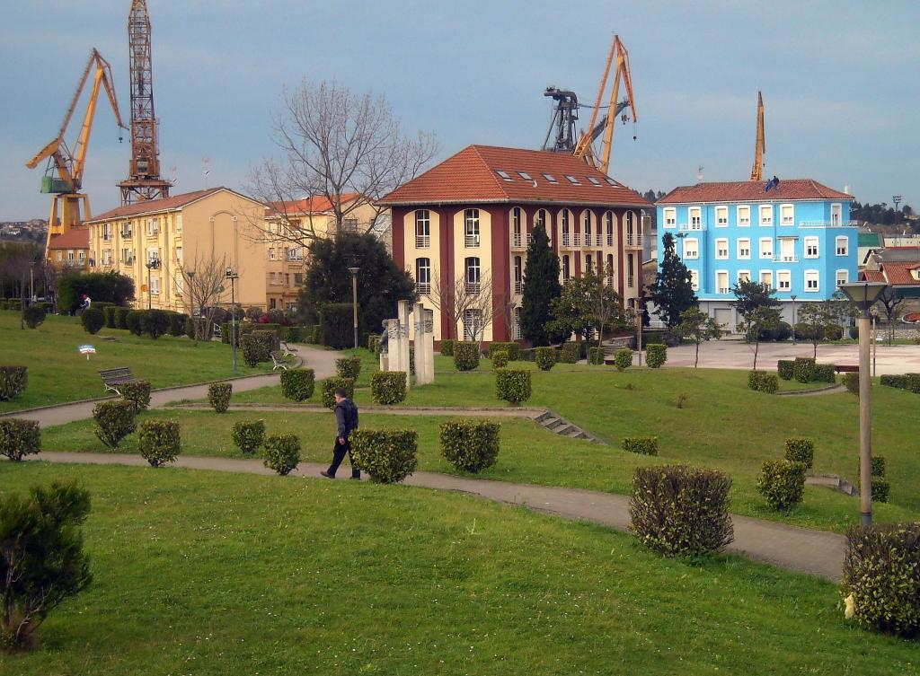
[[418, 176], [439, 149], [428, 133], [405, 134], [383, 95], [355, 94], [335, 80], [304, 80], [285, 90], [273, 115], [271, 141], [280, 157], [253, 169], [247, 189], [282, 227], [275, 233], [270, 223], [254, 224], [263, 235], [298, 246], [316, 238], [316, 198], [331, 216], [332, 232], [344, 229], [350, 214], [366, 205], [374, 207], [374, 218], [365, 232], [374, 230], [385, 212], [376, 202]]

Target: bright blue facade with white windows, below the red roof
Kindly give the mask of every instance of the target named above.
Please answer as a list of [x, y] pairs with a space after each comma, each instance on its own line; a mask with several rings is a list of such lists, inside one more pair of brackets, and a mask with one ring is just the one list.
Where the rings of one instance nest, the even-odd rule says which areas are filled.
[[850, 222], [850, 203], [659, 203], [659, 261], [664, 236], [674, 235], [701, 302], [734, 300], [731, 288], [744, 277], [770, 283], [780, 300], [825, 301], [839, 283], [857, 280], [858, 228]]

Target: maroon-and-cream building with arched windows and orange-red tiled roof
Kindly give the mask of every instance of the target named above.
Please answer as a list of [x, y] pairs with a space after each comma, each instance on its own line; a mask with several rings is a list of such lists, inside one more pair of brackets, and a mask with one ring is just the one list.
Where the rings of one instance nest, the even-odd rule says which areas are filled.
[[[470, 145], [380, 203], [391, 209], [397, 265], [412, 273], [424, 304], [441, 306], [435, 340], [520, 338], [517, 315], [535, 223], [546, 227], [559, 257], [560, 281], [609, 266], [627, 306], [641, 291], [650, 203], [572, 155]], [[479, 292], [480, 282], [489, 288], [492, 317], [482, 322], [470, 311], [454, 326], [449, 301], [433, 296]]]

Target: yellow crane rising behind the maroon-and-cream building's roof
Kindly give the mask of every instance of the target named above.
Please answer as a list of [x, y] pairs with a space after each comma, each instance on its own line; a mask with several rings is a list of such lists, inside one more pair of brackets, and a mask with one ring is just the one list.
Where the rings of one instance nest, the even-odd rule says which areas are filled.
[[[614, 88], [610, 93], [610, 105], [604, 118], [597, 121], [597, 112], [601, 109], [601, 101], [604, 100], [604, 90], [607, 87], [607, 80], [610, 77], [610, 67], [616, 62], [614, 71]], [[621, 101], [616, 98], [620, 92], [620, 81], [627, 90], [627, 97]], [[632, 91], [632, 74], [629, 72], [629, 52], [620, 41], [620, 36], [614, 36], [614, 43], [610, 47], [610, 54], [607, 56], [607, 65], [604, 68], [604, 78], [601, 80], [601, 87], [597, 91], [597, 100], [594, 102], [594, 109], [591, 112], [591, 124], [588, 126], [589, 132], [582, 132], [578, 143], [575, 146], [575, 156], [583, 159], [588, 164], [597, 166], [604, 174], [610, 168], [610, 150], [614, 141], [614, 126], [617, 118], [624, 122], [629, 120], [629, 109], [632, 113], [633, 121], [638, 121], [636, 114], [636, 97]], [[604, 143], [601, 146], [601, 159], [598, 162], [593, 157], [592, 143], [604, 132]], [[635, 137], [633, 137], [635, 138]]]

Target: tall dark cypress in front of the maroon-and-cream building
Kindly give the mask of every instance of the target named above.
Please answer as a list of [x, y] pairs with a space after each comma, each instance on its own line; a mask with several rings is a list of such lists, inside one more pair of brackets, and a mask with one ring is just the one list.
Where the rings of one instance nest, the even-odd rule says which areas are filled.
[[521, 335], [532, 345], [548, 345], [555, 338], [546, 331], [546, 322], [552, 319], [550, 304], [561, 293], [559, 258], [549, 248], [544, 227], [535, 225], [527, 246], [521, 305]]

